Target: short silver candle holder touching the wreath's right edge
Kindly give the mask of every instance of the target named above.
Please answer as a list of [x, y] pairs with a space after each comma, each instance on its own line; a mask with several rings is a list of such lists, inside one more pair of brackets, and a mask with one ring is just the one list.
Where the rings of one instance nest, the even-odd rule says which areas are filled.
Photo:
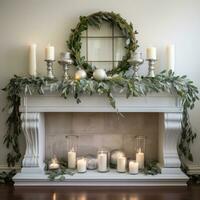
[[133, 68], [133, 77], [138, 78], [139, 66], [144, 63], [144, 59], [142, 59], [142, 53], [139, 52], [134, 53], [133, 56], [130, 57], [128, 62], [131, 64], [131, 67]]

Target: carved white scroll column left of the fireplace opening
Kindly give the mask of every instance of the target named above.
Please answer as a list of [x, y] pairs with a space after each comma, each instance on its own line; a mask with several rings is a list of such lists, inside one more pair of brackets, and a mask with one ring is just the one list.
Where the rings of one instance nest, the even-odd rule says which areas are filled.
[[45, 156], [44, 113], [22, 113], [21, 120], [26, 140], [22, 173], [43, 172]]

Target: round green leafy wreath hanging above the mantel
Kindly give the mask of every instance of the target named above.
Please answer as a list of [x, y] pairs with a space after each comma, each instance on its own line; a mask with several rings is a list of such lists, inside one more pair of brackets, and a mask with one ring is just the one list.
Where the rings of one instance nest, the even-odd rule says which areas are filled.
[[128, 24], [128, 22], [119, 14], [114, 12], [97, 12], [88, 16], [81, 16], [80, 22], [77, 24], [76, 28], [72, 29], [72, 33], [69, 37], [69, 41], [67, 41], [67, 44], [69, 50], [71, 51], [71, 58], [74, 61], [74, 65], [77, 68], [83, 68], [86, 70], [89, 76], [92, 75], [93, 67], [91, 64], [86, 62], [84, 56], [81, 56], [81, 35], [83, 31], [88, 29], [88, 26], [100, 28], [103, 22], [108, 22], [112, 26], [118, 27], [126, 40], [126, 53], [123, 56], [122, 61], [118, 63], [116, 68], [108, 71], [108, 74], [113, 75], [115, 73], [126, 72], [130, 67], [128, 59], [130, 58], [131, 54], [138, 48], [138, 41], [135, 38], [137, 31], [133, 30], [132, 23]]

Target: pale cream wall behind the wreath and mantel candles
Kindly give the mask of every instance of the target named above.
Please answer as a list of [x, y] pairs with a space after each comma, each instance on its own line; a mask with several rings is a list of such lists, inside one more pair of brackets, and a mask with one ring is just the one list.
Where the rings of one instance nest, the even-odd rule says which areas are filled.
[[[186, 74], [200, 87], [200, 1], [199, 0], [0, 0], [0, 87], [14, 75], [27, 74], [27, 45], [38, 44], [38, 72], [45, 74], [44, 47], [51, 42], [56, 54], [66, 49], [70, 29], [80, 15], [102, 11], [114, 11], [132, 21], [139, 31], [140, 49], [158, 48], [161, 69], [165, 66], [164, 46], [176, 45], [178, 74]], [[61, 67], [56, 65], [56, 75]], [[6, 104], [5, 94], [0, 92], [0, 109]], [[200, 103], [192, 111], [191, 120], [198, 133], [193, 146], [195, 162], [200, 164]], [[0, 115], [0, 141], [5, 134], [6, 114]], [[23, 137], [21, 146], [24, 146]], [[6, 164], [6, 148], [0, 145], [0, 166]]]

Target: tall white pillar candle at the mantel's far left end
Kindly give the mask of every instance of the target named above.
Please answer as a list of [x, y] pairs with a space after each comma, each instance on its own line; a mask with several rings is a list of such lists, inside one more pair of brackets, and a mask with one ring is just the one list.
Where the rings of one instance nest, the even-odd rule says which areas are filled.
[[31, 76], [36, 76], [36, 44], [31, 44], [29, 46], [29, 74]]

